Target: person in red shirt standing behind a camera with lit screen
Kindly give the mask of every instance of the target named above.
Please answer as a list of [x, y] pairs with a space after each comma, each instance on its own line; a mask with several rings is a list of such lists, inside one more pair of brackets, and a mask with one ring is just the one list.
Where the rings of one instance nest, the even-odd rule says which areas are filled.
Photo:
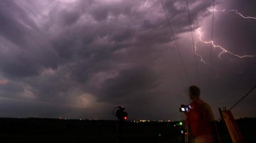
[[189, 87], [192, 102], [186, 114], [190, 132], [195, 143], [214, 143], [214, 116], [209, 104], [199, 98], [200, 89]]

